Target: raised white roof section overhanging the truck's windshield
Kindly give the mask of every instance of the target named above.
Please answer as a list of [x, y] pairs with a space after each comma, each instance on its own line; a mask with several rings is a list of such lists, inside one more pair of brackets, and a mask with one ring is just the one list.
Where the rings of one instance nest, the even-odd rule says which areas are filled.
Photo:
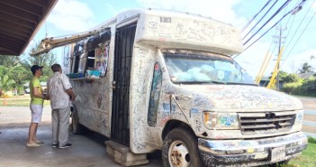
[[135, 42], [148, 43], [160, 49], [212, 51], [224, 55], [243, 51], [239, 30], [229, 23], [184, 12], [156, 9], [133, 9], [117, 14], [102, 23], [137, 23]]

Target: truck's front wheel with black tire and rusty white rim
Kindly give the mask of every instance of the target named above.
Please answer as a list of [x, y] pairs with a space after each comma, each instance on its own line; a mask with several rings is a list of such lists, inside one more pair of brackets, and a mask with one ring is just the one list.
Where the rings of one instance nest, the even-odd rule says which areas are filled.
[[162, 147], [164, 167], [201, 167], [203, 162], [195, 135], [183, 128], [170, 131]]

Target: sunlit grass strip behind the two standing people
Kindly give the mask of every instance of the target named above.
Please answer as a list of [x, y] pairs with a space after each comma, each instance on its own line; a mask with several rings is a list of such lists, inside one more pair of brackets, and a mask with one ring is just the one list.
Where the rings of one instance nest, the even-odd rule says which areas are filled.
[[[26, 97], [7, 97], [6, 102], [7, 105], [4, 105], [5, 98], [0, 98], [0, 107], [29, 107], [31, 98], [29, 96]], [[44, 107], [50, 106], [50, 101], [44, 100]]]

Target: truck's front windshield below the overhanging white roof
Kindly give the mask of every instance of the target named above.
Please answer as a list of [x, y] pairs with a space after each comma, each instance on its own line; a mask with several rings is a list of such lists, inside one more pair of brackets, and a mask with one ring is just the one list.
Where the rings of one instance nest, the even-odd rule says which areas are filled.
[[230, 57], [187, 52], [163, 54], [170, 79], [174, 83], [256, 85], [246, 71]]

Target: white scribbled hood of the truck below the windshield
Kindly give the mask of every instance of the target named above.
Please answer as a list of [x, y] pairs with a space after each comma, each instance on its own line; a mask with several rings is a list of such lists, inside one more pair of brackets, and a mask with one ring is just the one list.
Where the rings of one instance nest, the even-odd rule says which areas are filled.
[[[210, 100], [212, 109], [221, 111], [284, 111], [302, 109], [302, 102], [284, 93], [268, 88], [243, 85], [182, 85], [194, 90], [193, 105], [198, 100]], [[197, 98], [196, 98], [197, 97]], [[204, 103], [205, 104], [205, 103]]]

